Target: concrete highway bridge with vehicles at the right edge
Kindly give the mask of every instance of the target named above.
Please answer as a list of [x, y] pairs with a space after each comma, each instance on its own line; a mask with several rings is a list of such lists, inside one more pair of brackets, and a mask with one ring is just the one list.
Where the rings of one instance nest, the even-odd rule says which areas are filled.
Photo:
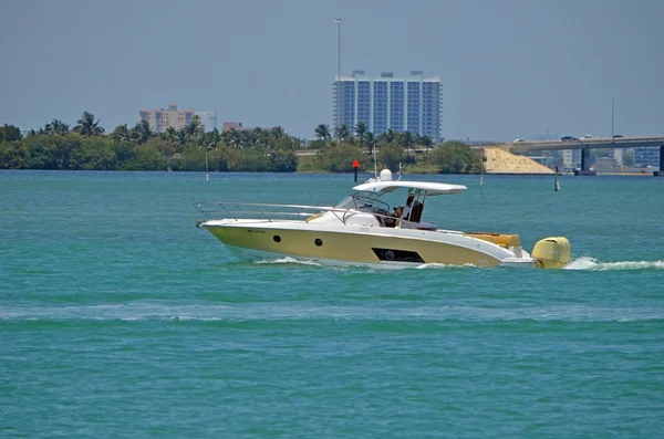
[[643, 148], [651, 146], [660, 147], [660, 171], [655, 173], [655, 176], [664, 177], [664, 137], [590, 137], [572, 140], [513, 142], [509, 144], [512, 153], [582, 149], [581, 169], [574, 173], [577, 175], [594, 175], [594, 171], [589, 169], [590, 149]]

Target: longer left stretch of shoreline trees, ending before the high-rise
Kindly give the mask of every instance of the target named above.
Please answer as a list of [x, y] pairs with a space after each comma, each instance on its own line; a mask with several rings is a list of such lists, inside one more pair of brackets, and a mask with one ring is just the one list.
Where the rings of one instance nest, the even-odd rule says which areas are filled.
[[85, 112], [73, 129], [55, 119], [23, 138], [18, 127], [0, 127], [0, 169], [203, 171], [207, 161], [210, 171], [292, 173], [300, 147], [281, 127], [204, 133], [197, 116], [180, 130], [155, 134], [139, 122], [105, 134]]

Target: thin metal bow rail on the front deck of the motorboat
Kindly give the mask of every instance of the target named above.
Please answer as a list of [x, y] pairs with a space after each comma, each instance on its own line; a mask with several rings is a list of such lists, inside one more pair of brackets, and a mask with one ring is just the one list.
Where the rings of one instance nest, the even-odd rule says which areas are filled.
[[236, 201], [206, 201], [196, 202], [194, 207], [205, 218], [196, 220], [196, 227], [203, 226], [210, 220], [262, 220], [273, 221], [307, 221], [325, 212], [332, 212], [339, 220], [345, 223], [349, 209], [339, 209], [328, 206], [304, 205], [271, 205], [260, 202], [236, 202]]

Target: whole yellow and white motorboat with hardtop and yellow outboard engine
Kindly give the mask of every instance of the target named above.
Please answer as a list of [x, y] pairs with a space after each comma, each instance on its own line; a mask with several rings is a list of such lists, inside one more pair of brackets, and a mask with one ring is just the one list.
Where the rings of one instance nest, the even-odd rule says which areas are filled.
[[[425, 205], [465, 190], [463, 185], [393, 180], [385, 169], [353, 187], [336, 206], [243, 201], [194, 206], [204, 216], [196, 226], [245, 261], [288, 257], [378, 269], [424, 264], [556, 269], [569, 263], [570, 243], [563, 237], [542, 239], [531, 254], [518, 234], [446, 230], [425, 220]], [[391, 206], [387, 199], [397, 197], [397, 191], [405, 192], [396, 198], [403, 206]]]

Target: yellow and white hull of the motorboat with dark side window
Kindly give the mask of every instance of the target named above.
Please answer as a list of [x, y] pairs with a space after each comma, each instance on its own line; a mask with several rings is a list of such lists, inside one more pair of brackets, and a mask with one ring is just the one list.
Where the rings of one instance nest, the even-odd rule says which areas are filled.
[[304, 222], [209, 221], [203, 227], [240, 260], [290, 257], [330, 265], [402, 269], [423, 264], [533, 266], [506, 249], [464, 234]]

